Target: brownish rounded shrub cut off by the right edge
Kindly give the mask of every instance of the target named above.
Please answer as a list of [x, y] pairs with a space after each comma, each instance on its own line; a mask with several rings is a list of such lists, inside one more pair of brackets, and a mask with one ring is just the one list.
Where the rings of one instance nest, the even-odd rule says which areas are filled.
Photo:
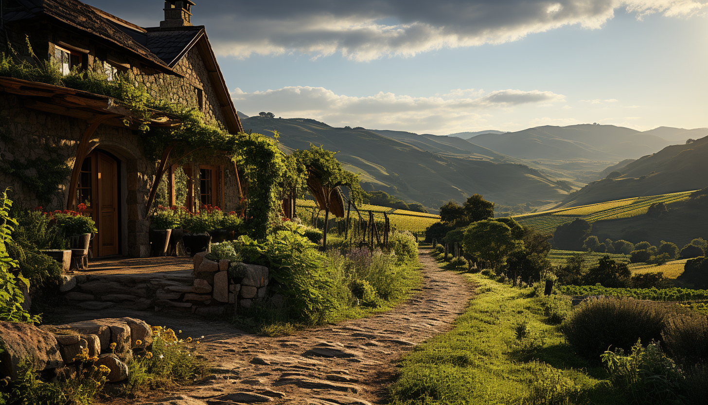
[[687, 312], [669, 316], [661, 337], [680, 365], [708, 364], [708, 318], [704, 314]]

